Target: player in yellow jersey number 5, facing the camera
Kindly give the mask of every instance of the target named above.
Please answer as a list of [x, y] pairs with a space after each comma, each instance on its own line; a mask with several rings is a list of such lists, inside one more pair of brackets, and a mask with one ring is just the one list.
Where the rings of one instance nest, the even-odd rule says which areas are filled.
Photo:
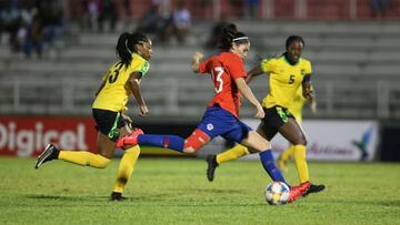
[[[314, 185], [309, 181], [306, 161], [306, 135], [290, 112], [296, 92], [302, 86], [302, 95], [313, 101], [311, 90], [311, 62], [301, 58], [304, 41], [299, 35], [290, 35], [286, 41], [286, 52], [280, 58], [264, 59], [248, 73], [247, 82], [262, 73], [269, 73], [269, 93], [262, 101], [266, 116], [261, 120], [257, 132], [270, 141], [278, 132], [284, 136], [294, 150], [294, 163], [299, 172], [300, 185], [297, 188], [304, 195], [320, 192], [323, 185]], [[213, 180], [214, 170], [221, 163], [236, 160], [253, 151], [242, 145], [207, 158], [207, 176]]]

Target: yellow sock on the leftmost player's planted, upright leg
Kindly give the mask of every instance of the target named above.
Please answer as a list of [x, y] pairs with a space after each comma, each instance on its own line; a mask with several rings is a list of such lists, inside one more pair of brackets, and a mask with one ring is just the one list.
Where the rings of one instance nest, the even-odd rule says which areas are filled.
[[136, 145], [124, 151], [117, 172], [117, 181], [113, 192], [122, 193], [128, 180], [133, 173], [134, 164], [139, 157], [140, 147]]

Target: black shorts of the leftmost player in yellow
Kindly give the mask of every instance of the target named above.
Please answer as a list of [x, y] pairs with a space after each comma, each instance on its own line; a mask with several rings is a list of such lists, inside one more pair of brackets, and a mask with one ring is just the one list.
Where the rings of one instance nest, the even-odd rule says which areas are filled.
[[121, 114], [109, 110], [92, 109], [92, 115], [96, 129], [111, 141], [117, 142], [119, 130], [127, 124]]

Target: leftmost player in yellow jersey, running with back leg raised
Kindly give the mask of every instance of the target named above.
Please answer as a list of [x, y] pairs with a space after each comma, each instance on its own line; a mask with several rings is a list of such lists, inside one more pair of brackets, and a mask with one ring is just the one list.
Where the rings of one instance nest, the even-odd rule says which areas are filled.
[[[132, 94], [139, 106], [139, 115], [149, 112], [140, 91], [140, 81], [149, 71], [152, 57], [151, 40], [142, 33], [122, 33], [117, 43], [119, 61], [103, 76], [92, 104], [92, 115], [97, 123], [97, 154], [87, 151], [61, 151], [48, 144], [37, 158], [36, 168], [51, 160], [63, 160], [78, 165], [104, 168], [116, 151], [116, 142], [131, 130], [131, 120], [124, 115], [129, 96]], [[117, 181], [111, 193], [112, 201], [122, 201], [122, 192], [133, 172], [140, 153], [139, 145], [123, 146]]]

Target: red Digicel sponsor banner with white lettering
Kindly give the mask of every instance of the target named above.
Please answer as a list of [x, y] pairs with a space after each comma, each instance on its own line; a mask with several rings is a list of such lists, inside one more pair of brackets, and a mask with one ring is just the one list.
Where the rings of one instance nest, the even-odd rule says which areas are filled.
[[48, 143], [94, 152], [96, 139], [91, 117], [0, 116], [0, 155], [36, 156]]

